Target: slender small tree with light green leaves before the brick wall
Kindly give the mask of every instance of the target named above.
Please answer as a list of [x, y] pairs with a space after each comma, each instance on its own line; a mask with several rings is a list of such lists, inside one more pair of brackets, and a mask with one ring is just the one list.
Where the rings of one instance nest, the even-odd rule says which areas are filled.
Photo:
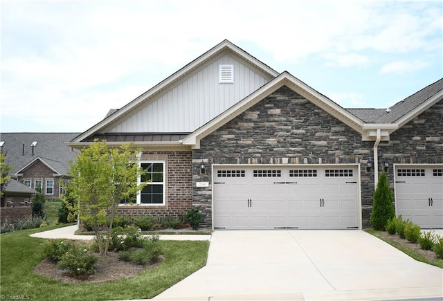
[[[92, 228], [96, 235], [100, 255], [107, 255], [111, 239], [112, 222], [116, 208], [121, 200], [134, 200], [137, 192], [143, 188], [138, 184], [138, 176], [143, 170], [138, 166], [132, 145], [121, 145], [109, 149], [106, 141], [94, 143], [82, 149], [75, 164], [71, 165], [69, 197], [73, 204], [64, 197], [64, 203], [78, 214], [83, 223]], [[106, 231], [106, 244], [103, 244], [100, 230]]]

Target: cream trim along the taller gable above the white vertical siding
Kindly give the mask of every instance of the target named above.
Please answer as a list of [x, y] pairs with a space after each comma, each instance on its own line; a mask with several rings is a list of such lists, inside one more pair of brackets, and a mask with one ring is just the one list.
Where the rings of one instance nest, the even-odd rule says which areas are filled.
[[269, 75], [275, 77], [278, 76], [278, 72], [271, 69], [271, 67], [267, 66], [266, 64], [260, 62], [252, 55], [246, 53], [241, 48], [235, 46], [231, 42], [229, 42], [227, 39], [225, 39], [223, 42], [215, 46], [214, 48], [210, 49], [210, 51], [204, 53], [204, 55], [201, 55], [196, 60], [190, 62], [186, 66], [184, 66], [182, 69], [177, 71], [176, 73], [170, 75], [170, 77], [166, 78], [159, 84], [156, 84], [156, 86], [152, 87], [152, 89], [146, 91], [142, 95], [138, 96], [136, 99], [132, 100], [132, 102], [129, 102], [129, 104], [126, 104], [125, 107], [122, 107], [115, 113], [111, 114], [104, 120], [98, 122], [96, 125], [88, 129], [87, 131], [84, 131], [84, 133], [80, 134], [80, 136], [76, 137], [72, 142], [73, 143], [80, 143], [85, 138], [88, 138], [92, 134], [100, 131], [100, 129], [103, 129], [104, 127], [107, 127], [112, 122], [120, 118], [120, 116], [123, 116], [128, 111], [134, 109], [134, 107], [137, 107], [142, 102], [145, 102], [148, 98], [151, 98], [152, 95], [159, 93], [159, 91], [165, 89], [168, 85], [172, 84], [175, 80], [178, 80], [180, 77], [183, 77], [190, 71], [197, 68], [197, 66], [200, 66], [201, 64], [204, 64], [204, 62], [207, 62], [210, 60], [211, 57], [217, 55], [218, 53], [221, 53], [221, 51], [225, 51], [226, 49], [232, 51], [233, 53], [237, 54], [239, 57], [242, 57], [242, 59], [246, 60], [246, 62], [250, 62], [251, 64], [257, 66], [257, 68], [262, 69], [264, 72], [269, 73]]

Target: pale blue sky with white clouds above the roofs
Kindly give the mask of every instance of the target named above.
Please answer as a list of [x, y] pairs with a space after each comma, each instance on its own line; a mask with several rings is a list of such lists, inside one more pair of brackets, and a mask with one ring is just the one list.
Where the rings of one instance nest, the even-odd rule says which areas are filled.
[[1, 0], [1, 132], [83, 132], [224, 39], [345, 108], [443, 77], [443, 1]]

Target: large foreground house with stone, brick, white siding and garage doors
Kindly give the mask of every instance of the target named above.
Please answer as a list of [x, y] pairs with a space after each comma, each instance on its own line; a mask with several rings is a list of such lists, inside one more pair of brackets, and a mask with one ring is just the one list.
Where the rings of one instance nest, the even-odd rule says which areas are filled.
[[344, 109], [225, 40], [69, 145], [143, 149], [150, 181], [124, 215], [198, 208], [212, 228], [365, 228], [386, 169], [397, 215], [443, 228], [442, 99], [443, 79], [390, 110]]

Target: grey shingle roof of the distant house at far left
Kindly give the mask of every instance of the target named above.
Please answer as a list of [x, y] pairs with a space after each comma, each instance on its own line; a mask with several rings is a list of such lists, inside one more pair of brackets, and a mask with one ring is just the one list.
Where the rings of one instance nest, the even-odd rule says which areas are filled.
[[[78, 151], [73, 152], [66, 143], [79, 133], [0, 133], [1, 147], [6, 153], [5, 164], [14, 169], [10, 174], [17, 174], [24, 167], [39, 158], [56, 174], [65, 175], [69, 170], [70, 161], [75, 160]], [[31, 147], [37, 141], [37, 145]]]

